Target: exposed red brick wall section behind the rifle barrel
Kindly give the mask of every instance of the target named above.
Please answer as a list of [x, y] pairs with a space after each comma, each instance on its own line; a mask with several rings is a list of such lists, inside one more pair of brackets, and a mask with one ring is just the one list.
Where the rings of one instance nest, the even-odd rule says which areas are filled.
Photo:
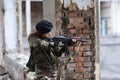
[[[66, 66], [65, 80], [95, 80], [95, 26], [94, 8], [87, 10], [63, 11], [67, 13], [67, 26], [63, 26], [63, 13], [56, 4], [56, 34], [62, 33], [61, 27], [66, 27], [67, 35], [86, 39], [81, 42], [77, 56]], [[65, 18], [65, 17], [64, 17]], [[73, 49], [74, 50], [74, 49]]]

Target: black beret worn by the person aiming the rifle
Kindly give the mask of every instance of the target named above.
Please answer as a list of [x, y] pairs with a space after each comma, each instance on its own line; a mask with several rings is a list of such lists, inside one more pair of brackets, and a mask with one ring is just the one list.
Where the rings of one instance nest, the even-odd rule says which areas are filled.
[[53, 28], [52, 23], [47, 20], [42, 20], [38, 22], [36, 25], [36, 29], [40, 34], [48, 33], [51, 31], [52, 28]]

